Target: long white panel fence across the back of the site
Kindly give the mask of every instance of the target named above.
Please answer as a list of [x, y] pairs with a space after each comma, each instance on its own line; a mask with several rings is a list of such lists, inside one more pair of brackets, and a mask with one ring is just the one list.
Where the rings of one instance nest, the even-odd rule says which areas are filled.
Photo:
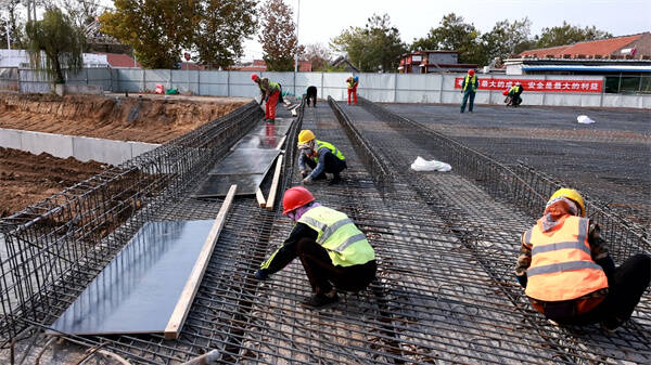
[[[302, 94], [308, 86], [318, 88], [319, 97], [328, 95], [335, 100], [346, 99], [345, 80], [348, 73], [259, 73], [263, 77], [280, 82], [283, 90], [293, 94]], [[455, 89], [456, 78], [462, 74], [358, 74], [358, 92], [375, 102], [388, 103], [448, 103], [461, 102], [461, 92]], [[477, 75], [480, 80], [486, 79], [536, 79], [536, 80], [605, 80], [601, 76], [562, 76], [562, 75]], [[20, 70], [20, 89], [22, 92], [49, 92], [50, 84], [34, 70]], [[86, 68], [78, 75], [68, 78], [73, 84], [97, 84], [105, 91], [139, 92], [153, 91], [156, 84], [165, 89], [174, 88], [179, 92], [191, 91], [196, 95], [217, 96], [256, 96], [258, 88], [251, 80], [247, 71], [199, 71], [177, 69], [140, 69], [140, 68]], [[603, 87], [602, 87], [603, 88]], [[603, 92], [538, 92], [527, 90], [523, 94], [524, 105], [550, 106], [603, 106], [651, 108], [651, 95], [648, 94], [607, 94]], [[475, 103], [503, 104], [501, 90], [482, 90], [480, 88]]]

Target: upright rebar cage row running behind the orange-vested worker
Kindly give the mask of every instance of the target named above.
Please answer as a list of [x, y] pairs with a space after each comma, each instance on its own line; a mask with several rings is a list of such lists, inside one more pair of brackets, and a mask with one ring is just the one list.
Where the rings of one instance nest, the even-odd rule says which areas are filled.
[[[495, 198], [512, 204], [532, 218], [537, 218], [542, 212], [547, 197], [567, 185], [524, 164], [518, 167], [500, 164], [481, 152], [363, 97], [360, 97], [360, 104], [381, 120], [401, 127], [398, 130], [404, 131], [404, 128], [408, 127], [411, 131], [417, 130], [419, 134], [445, 146], [446, 155], [442, 158], [452, 164], [458, 173], [473, 179]], [[611, 245], [610, 250], [616, 262], [622, 262], [633, 253], [651, 252], [651, 242], [643, 227], [618, 216], [605, 204], [591, 199], [587, 194], [584, 193], [584, 196], [587, 214], [604, 227], [604, 238]]]

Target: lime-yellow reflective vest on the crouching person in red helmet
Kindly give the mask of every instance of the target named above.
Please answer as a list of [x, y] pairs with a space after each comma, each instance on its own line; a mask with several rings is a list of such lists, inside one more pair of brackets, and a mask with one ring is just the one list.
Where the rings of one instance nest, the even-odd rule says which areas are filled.
[[359, 265], [375, 260], [366, 235], [341, 211], [319, 206], [306, 211], [298, 223], [317, 231], [317, 244], [328, 250], [335, 265]]

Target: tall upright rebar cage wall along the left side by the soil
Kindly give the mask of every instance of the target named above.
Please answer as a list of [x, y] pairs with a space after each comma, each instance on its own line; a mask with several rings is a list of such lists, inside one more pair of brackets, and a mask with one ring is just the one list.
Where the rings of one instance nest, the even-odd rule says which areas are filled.
[[[0, 341], [88, 285], [156, 211], [181, 198], [256, 121], [255, 103], [3, 219]], [[120, 227], [120, 230], [117, 230]]]

